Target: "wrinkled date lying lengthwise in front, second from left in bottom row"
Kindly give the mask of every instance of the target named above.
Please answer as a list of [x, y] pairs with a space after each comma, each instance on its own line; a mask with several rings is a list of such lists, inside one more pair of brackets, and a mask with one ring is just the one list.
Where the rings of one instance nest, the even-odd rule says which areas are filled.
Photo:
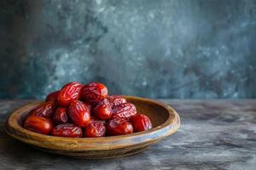
[[53, 127], [51, 135], [69, 138], [81, 138], [83, 131], [81, 127], [77, 127], [72, 123], [64, 123]]

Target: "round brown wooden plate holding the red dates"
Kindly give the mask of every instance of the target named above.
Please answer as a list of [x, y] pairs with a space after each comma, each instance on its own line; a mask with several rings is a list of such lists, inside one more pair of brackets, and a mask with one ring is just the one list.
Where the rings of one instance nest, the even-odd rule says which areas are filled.
[[37, 102], [25, 105], [12, 113], [6, 122], [6, 132], [15, 139], [50, 153], [102, 159], [135, 154], [177, 131], [180, 119], [170, 106], [159, 101], [132, 96], [125, 96], [125, 99], [136, 105], [138, 112], [150, 118], [152, 129], [140, 133], [90, 139], [33, 133], [23, 128], [21, 124], [26, 114], [41, 103]]

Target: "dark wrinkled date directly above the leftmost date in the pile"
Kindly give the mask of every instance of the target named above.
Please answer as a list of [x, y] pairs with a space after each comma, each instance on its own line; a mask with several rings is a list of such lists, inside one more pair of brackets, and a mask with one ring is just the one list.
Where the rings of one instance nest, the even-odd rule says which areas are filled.
[[43, 117], [49, 118], [53, 116], [54, 112], [55, 112], [55, 102], [48, 101], [48, 102], [42, 103], [41, 105], [38, 105], [38, 107], [30, 111], [29, 115], [37, 115], [37, 116], [43, 116]]

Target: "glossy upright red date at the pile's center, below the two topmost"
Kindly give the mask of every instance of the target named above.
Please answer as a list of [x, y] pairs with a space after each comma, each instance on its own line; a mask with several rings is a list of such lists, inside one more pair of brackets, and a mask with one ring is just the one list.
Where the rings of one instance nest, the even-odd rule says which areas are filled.
[[79, 100], [74, 100], [68, 106], [68, 116], [79, 127], [86, 127], [90, 123], [89, 109]]

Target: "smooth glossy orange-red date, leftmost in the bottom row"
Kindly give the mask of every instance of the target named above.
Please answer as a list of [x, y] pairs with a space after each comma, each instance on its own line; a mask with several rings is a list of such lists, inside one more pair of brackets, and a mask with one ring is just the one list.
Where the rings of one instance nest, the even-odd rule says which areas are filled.
[[53, 126], [49, 118], [31, 115], [26, 117], [24, 127], [35, 133], [49, 134]]

